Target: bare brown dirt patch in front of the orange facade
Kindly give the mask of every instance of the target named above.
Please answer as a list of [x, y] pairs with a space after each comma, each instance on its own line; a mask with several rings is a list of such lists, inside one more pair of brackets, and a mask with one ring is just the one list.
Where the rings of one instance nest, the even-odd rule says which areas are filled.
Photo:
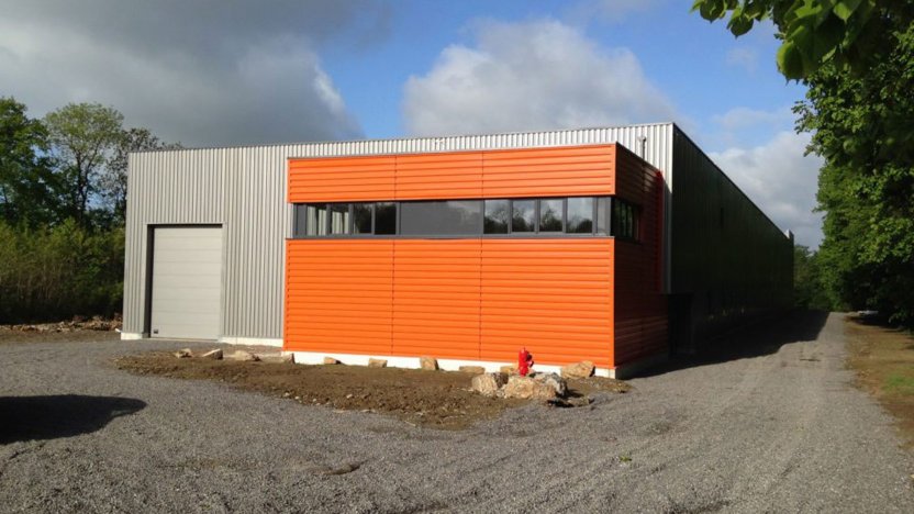
[[[215, 380], [305, 405], [378, 412], [443, 429], [466, 428], [527, 403], [473, 393], [469, 390], [472, 376], [455, 371], [177, 359], [165, 353], [122, 357], [114, 362], [138, 375]], [[571, 380], [568, 386], [570, 395], [578, 399], [628, 390], [625, 382], [603, 378]]]

